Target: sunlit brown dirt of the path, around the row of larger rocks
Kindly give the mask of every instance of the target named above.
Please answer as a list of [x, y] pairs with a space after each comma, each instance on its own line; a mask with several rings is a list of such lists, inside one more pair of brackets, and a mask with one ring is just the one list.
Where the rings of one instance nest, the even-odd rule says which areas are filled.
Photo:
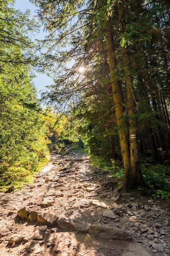
[[[104, 208], [92, 204], [91, 200], [100, 199], [107, 209], [120, 210], [132, 202], [132, 198], [138, 204], [139, 201], [147, 204], [151, 198], [137, 193], [117, 195], [114, 194], [113, 186], [115, 181], [109, 183], [107, 173], [92, 167], [86, 155], [69, 150], [66, 155], [52, 154], [49, 164], [36, 175], [34, 184], [26, 184], [20, 191], [0, 193], [0, 256], [155, 255], [149, 246], [135, 240], [135, 236], [132, 240], [107, 240], [72, 229], [50, 226], [45, 229], [38, 246], [36, 241], [35, 248], [35, 230], [42, 225], [17, 216], [18, 210], [28, 207], [31, 211], [52, 213], [59, 218], [76, 218], [91, 225], [108, 225], [131, 231], [136, 225], [135, 219], [125, 215], [122, 220], [118, 216], [116, 221], [105, 218]], [[49, 199], [49, 204], [43, 204], [44, 199]], [[159, 204], [159, 207], [168, 209], [165, 203]], [[9, 244], [13, 234], [23, 235], [24, 240]]]

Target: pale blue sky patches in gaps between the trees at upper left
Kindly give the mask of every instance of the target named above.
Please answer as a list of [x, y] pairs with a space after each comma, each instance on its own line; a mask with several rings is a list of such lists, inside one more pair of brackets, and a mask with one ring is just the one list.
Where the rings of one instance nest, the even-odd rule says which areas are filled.
[[[36, 7], [29, 2], [29, 0], [15, 0], [15, 9], [20, 9], [21, 11], [26, 11], [29, 9], [31, 15], [35, 15]], [[43, 39], [45, 33], [43, 31], [40, 34], [35, 35], [37, 39]], [[49, 78], [45, 74], [36, 74], [37, 77], [33, 79], [35, 87], [37, 88], [37, 96], [40, 98], [40, 90], [46, 90], [45, 86], [51, 85], [53, 79]]]

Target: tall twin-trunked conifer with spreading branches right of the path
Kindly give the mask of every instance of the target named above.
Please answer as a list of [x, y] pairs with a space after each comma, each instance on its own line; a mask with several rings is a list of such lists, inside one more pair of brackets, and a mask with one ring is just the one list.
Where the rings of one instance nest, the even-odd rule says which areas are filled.
[[[150, 108], [149, 115], [153, 117], [150, 128], [152, 127], [153, 130], [156, 128], [154, 125], [158, 124], [155, 112], [162, 115], [163, 108], [160, 107], [161, 104], [158, 101], [157, 107], [159, 108], [156, 111], [153, 108], [154, 104], [151, 106], [150, 83], [153, 79], [150, 71], [155, 69], [155, 63], [149, 62], [146, 71], [146, 54], [155, 58], [151, 52], [153, 53], [153, 49], [157, 49], [157, 44], [160, 44], [160, 38], [157, 41], [154, 39], [155, 34], [157, 34], [155, 24], [161, 23], [163, 27], [161, 17], [159, 15], [158, 18], [157, 13], [160, 10], [164, 14], [166, 13], [163, 11], [163, 4], [166, 1], [89, 0], [86, 4], [83, 1], [44, 2], [43, 0], [32, 0], [32, 2], [40, 8], [38, 11], [40, 20], [50, 31], [51, 52], [49, 49], [48, 54], [46, 54], [47, 63], [50, 68], [53, 61], [57, 63], [56, 66], [61, 65], [61, 62], [63, 64], [61, 65], [62, 72], [59, 71], [60, 67], [56, 69], [58, 73], [55, 72], [55, 85], [47, 94], [49, 101], [55, 101], [57, 105], [61, 102], [67, 102], [67, 110], [71, 110], [79, 100], [81, 101], [86, 97], [87, 94], [84, 92], [87, 89], [93, 90], [92, 88], [101, 86], [101, 78], [109, 78], [112, 85], [121, 154], [124, 162], [122, 189], [127, 191], [127, 189], [138, 185], [144, 186], [145, 182], [139, 166], [137, 127], [140, 124], [140, 119], [142, 117], [147, 119], [148, 114], [142, 115], [143, 113], [138, 112], [138, 103], [141, 103], [140, 97], [143, 97], [148, 109]], [[161, 8], [158, 8], [159, 4], [161, 4]], [[155, 17], [157, 17], [157, 22]], [[64, 49], [63, 47], [68, 44], [69, 48]], [[56, 53], [52, 55], [56, 45], [58, 49], [59, 46], [62, 49], [57, 49]], [[159, 49], [159, 54], [160, 52], [162, 49], [161, 51]], [[73, 68], [71, 70], [64, 69], [64, 63], [73, 58], [75, 60]], [[106, 59], [108, 61], [106, 66], [109, 67], [108, 74], [106, 72], [99, 73], [100, 67]], [[167, 58], [164, 58], [164, 67], [165, 59], [168, 67]], [[137, 63], [145, 64], [139, 67]], [[162, 67], [160, 61], [157, 63], [160, 63]], [[79, 73], [75, 74], [79, 65], [83, 64], [87, 67], [84, 76]], [[142, 72], [147, 72], [147, 76], [142, 76], [142, 79], [140, 77], [140, 81], [142, 80], [146, 87], [145, 95], [139, 82], [139, 75]], [[156, 74], [156, 77], [158, 78], [159, 74]], [[167, 75], [164, 76], [165, 79], [167, 79]], [[156, 81], [154, 89], [161, 88], [162, 84], [162, 81], [159, 81], [158, 86]], [[158, 90], [155, 92], [157, 94]], [[154, 98], [152, 97], [152, 99]], [[162, 100], [162, 102], [165, 104], [166, 101]], [[167, 117], [167, 114], [168, 111], [164, 116]], [[167, 120], [167, 118], [165, 119]], [[158, 126], [157, 131], [161, 131]], [[160, 136], [158, 137], [160, 138]], [[158, 138], [155, 141], [157, 142]], [[159, 146], [162, 147], [162, 145], [162, 141], [159, 139]], [[170, 147], [170, 145], [167, 146]]]

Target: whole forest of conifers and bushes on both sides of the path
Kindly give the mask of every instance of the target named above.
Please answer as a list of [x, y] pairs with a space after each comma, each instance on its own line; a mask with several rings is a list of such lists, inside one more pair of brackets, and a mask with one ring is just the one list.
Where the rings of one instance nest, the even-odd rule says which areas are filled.
[[[47, 146], [65, 139], [121, 177], [119, 192], [152, 188], [169, 199], [170, 2], [30, 2], [36, 20], [1, 0], [0, 185], [14, 173], [26, 182]], [[46, 37], [31, 42], [40, 25]], [[48, 111], [35, 69], [53, 78], [41, 99]]]

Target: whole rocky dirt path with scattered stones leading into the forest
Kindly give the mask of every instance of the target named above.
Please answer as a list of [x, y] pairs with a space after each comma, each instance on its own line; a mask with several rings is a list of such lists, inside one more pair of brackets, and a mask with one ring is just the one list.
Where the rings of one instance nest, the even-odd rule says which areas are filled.
[[0, 193], [0, 256], [167, 256], [170, 209], [116, 195], [86, 155], [54, 154], [33, 185]]

